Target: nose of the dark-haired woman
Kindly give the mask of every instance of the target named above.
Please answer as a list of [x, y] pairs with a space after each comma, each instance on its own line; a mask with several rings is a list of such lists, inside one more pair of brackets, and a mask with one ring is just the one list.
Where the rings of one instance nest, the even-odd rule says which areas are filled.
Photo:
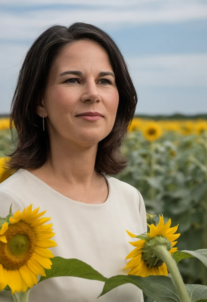
[[91, 103], [101, 101], [94, 79], [90, 79], [87, 83], [85, 83], [84, 92], [82, 94], [81, 101], [82, 102], [90, 101]]

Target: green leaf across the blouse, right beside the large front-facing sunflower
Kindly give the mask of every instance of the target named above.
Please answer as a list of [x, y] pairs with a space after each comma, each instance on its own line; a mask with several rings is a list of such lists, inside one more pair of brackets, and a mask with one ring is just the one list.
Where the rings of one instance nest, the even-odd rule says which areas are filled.
[[78, 259], [65, 259], [62, 257], [54, 257], [51, 259], [51, 269], [45, 269], [46, 277], [41, 277], [40, 281], [52, 277], [73, 276], [91, 280], [105, 281], [103, 275], [93, 269], [90, 265]]

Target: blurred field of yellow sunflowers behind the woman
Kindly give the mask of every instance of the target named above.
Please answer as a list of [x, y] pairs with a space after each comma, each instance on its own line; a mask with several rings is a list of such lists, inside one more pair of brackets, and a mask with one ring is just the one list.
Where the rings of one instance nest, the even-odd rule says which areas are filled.
[[[14, 147], [8, 119], [1, 119], [0, 157]], [[179, 250], [206, 249], [207, 121], [135, 117], [122, 152], [127, 168], [113, 176], [140, 191], [148, 213], [179, 223]], [[196, 258], [179, 262], [179, 269], [185, 283], [207, 285], [207, 271]]]

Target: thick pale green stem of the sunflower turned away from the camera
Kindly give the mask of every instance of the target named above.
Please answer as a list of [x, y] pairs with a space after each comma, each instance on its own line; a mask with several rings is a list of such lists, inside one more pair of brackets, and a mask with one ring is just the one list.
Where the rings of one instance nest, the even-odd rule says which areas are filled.
[[162, 245], [155, 246], [153, 247], [153, 252], [159, 259], [162, 259], [167, 265], [167, 269], [171, 277], [173, 278], [173, 281], [177, 288], [180, 302], [190, 302], [190, 298], [186, 291], [185, 284], [183, 283], [178, 266], [175, 260], [170, 255], [170, 253], [165, 248], [165, 246]]

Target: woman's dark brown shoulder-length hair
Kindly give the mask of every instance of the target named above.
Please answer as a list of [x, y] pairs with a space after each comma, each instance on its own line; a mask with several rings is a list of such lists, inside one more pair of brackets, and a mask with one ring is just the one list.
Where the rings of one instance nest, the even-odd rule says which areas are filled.
[[10, 129], [17, 131], [17, 146], [8, 162], [8, 170], [38, 169], [48, 159], [50, 140], [45, 123], [37, 114], [38, 99], [44, 93], [54, 57], [65, 45], [82, 39], [96, 41], [107, 51], [115, 73], [119, 104], [113, 129], [98, 143], [95, 169], [98, 173], [117, 174], [126, 167], [127, 159], [120, 146], [131, 123], [137, 95], [124, 57], [112, 38], [100, 28], [82, 22], [69, 27], [54, 25], [44, 31], [31, 45], [18, 76], [10, 109]]

